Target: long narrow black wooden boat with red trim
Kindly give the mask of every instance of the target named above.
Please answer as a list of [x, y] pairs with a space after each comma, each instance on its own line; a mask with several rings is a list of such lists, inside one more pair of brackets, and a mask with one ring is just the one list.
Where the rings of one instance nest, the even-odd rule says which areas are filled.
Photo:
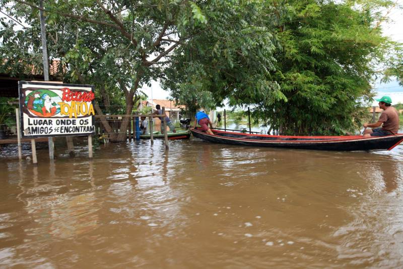
[[194, 137], [208, 142], [242, 146], [281, 147], [315, 150], [390, 150], [403, 141], [403, 134], [382, 137], [353, 136], [282, 136], [226, 132], [212, 129], [210, 135], [197, 129], [190, 129]]

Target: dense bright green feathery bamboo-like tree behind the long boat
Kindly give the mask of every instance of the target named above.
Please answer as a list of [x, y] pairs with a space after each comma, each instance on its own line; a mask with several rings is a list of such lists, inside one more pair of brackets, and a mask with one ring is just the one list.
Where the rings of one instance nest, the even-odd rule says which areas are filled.
[[288, 16], [279, 16], [276, 37], [282, 49], [273, 74], [284, 98], [258, 102], [253, 116], [284, 134], [354, 132], [366, 117], [363, 104], [373, 96], [374, 63], [388, 47], [371, 12], [379, 5], [312, 0], [288, 4], [278, 9], [279, 15]]

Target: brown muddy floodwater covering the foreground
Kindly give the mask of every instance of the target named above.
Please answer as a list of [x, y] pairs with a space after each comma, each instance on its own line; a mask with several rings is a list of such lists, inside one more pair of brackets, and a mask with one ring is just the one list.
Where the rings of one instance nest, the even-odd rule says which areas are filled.
[[0, 267], [403, 266], [403, 146], [164, 148], [61, 148], [54, 164], [43, 148], [37, 167], [4, 148]]

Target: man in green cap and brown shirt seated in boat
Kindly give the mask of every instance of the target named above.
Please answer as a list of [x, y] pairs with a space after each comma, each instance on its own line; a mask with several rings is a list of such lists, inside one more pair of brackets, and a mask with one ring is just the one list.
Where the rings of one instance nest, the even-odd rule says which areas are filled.
[[[399, 113], [391, 106], [392, 99], [389, 96], [382, 96], [379, 101], [380, 109], [383, 109], [379, 120], [376, 123], [364, 123], [364, 136], [385, 136], [394, 135], [399, 130]], [[382, 125], [382, 127], [380, 127]]]

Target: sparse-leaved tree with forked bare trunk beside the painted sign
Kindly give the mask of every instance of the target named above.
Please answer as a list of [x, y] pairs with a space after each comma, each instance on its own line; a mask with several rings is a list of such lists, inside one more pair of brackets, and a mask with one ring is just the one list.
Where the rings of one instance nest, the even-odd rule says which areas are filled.
[[[15, 70], [16, 65], [22, 64], [20, 58], [29, 59], [33, 52], [39, 58], [39, 7], [37, 1], [30, 0], [3, 0], [2, 4], [10, 17], [31, 26], [13, 34], [10, 24], [14, 23], [3, 24], [9, 36], [7, 39], [2, 36], [1, 59], [11, 59], [7, 68]], [[196, 4], [188, 1], [50, 0], [44, 1], [44, 11], [48, 40], [53, 41], [48, 42], [50, 55], [63, 59], [66, 69], [61, 71], [66, 73], [65, 80], [95, 84], [101, 92], [102, 87], [109, 89], [103, 94], [103, 100], [107, 100], [113, 89], [120, 88], [126, 115], [131, 114], [141, 85], [158, 78], [164, 57], [192, 37], [187, 35], [184, 25], [197, 28], [207, 22]], [[27, 30], [33, 35], [28, 37]], [[17, 40], [16, 35], [23, 38]], [[8, 49], [12, 50], [6, 54]], [[100, 109], [97, 112], [102, 113]], [[122, 130], [127, 128], [128, 119], [123, 118]], [[103, 123], [110, 130], [108, 123]], [[125, 138], [123, 132], [112, 136], [114, 141]]]

